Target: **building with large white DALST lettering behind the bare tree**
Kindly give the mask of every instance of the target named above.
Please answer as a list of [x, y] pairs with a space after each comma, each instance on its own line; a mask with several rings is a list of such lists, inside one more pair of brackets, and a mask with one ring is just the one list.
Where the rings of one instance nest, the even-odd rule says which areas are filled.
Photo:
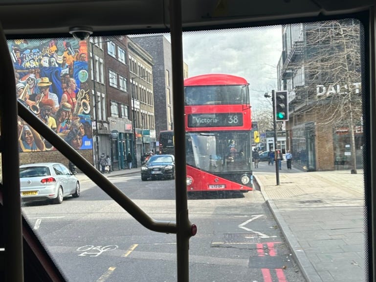
[[278, 89], [289, 93], [286, 146], [294, 164], [307, 171], [362, 168], [359, 23], [282, 30]]

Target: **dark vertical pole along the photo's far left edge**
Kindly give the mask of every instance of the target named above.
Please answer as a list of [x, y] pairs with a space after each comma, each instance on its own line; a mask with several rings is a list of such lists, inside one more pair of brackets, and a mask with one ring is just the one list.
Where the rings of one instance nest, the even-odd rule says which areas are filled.
[[5, 281], [23, 282], [22, 215], [20, 197], [20, 156], [16, 80], [5, 34], [0, 26], [0, 128], [3, 195]]

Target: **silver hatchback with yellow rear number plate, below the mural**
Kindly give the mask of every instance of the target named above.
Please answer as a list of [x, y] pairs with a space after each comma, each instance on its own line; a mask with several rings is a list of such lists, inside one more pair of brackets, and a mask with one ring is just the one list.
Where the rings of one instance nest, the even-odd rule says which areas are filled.
[[24, 202], [49, 200], [61, 204], [66, 196], [80, 196], [78, 178], [60, 163], [20, 165], [20, 184]]

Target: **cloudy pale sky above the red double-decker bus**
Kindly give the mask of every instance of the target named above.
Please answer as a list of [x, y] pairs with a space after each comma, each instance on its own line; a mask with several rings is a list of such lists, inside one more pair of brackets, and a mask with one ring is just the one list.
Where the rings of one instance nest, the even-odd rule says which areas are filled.
[[278, 27], [192, 32], [183, 35], [188, 75], [227, 73], [249, 82], [252, 104], [265, 103], [264, 93], [277, 89], [276, 67], [282, 52]]

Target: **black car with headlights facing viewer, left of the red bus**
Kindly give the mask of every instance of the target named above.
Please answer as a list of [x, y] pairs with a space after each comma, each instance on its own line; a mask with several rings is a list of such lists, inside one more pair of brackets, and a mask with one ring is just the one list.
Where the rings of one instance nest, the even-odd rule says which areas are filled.
[[175, 179], [174, 155], [154, 155], [141, 167], [141, 180]]

